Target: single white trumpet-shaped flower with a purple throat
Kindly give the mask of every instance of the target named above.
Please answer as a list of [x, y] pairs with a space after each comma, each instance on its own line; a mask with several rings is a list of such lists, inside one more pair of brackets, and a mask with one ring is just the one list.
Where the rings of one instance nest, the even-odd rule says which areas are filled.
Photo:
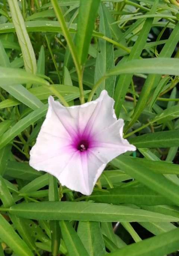
[[90, 195], [107, 163], [136, 148], [123, 139], [124, 122], [117, 120], [107, 91], [79, 106], [64, 107], [52, 96], [48, 103], [29, 164], [54, 175], [63, 186]]

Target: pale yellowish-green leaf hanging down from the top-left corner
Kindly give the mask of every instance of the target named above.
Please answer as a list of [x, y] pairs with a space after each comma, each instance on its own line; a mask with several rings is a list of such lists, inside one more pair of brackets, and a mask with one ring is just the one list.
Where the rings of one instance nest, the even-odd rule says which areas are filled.
[[34, 49], [32, 48], [28, 33], [26, 31], [25, 23], [18, 5], [18, 1], [8, 0], [8, 3], [12, 15], [12, 21], [15, 26], [16, 34], [18, 36], [19, 45], [21, 46], [25, 69], [27, 72], [35, 74], [37, 69], [35, 53]]

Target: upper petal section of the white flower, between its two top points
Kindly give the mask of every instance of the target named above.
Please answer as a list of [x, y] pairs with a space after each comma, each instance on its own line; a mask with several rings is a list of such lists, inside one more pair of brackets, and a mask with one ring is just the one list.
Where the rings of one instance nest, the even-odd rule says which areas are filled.
[[[61, 126], [64, 126], [68, 134], [75, 135], [75, 133], [96, 133], [105, 129], [116, 119], [114, 113], [114, 100], [109, 97], [106, 90], [103, 90], [100, 97], [94, 101], [87, 102], [78, 106], [64, 107], [59, 102], [54, 101], [53, 97], [48, 99], [49, 107], [53, 111], [55, 123], [59, 119]], [[48, 113], [47, 117], [48, 118]], [[53, 128], [55, 129], [55, 128]], [[56, 133], [61, 132], [57, 127]]]

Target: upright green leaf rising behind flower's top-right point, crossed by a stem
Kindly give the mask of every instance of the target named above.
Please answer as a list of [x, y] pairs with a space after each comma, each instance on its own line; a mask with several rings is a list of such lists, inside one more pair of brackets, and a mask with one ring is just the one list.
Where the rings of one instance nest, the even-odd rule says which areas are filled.
[[[105, 36], [111, 38], [111, 31], [109, 24], [106, 18], [104, 4], [100, 4], [100, 27], [99, 31], [103, 33]], [[107, 70], [114, 67], [114, 48], [113, 45], [101, 38], [98, 39], [98, 50], [97, 50], [97, 58], [95, 63], [95, 82], [100, 79], [101, 76], [104, 76]], [[109, 96], [113, 97], [114, 95], [114, 85], [115, 85], [116, 77], [112, 76], [99, 85], [96, 93], [97, 97], [100, 95], [102, 90], [107, 90]]]

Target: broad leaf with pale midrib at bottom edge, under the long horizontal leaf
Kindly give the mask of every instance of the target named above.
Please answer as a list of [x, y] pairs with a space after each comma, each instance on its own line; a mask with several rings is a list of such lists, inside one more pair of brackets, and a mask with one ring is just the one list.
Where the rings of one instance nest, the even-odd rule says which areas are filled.
[[106, 253], [99, 222], [79, 222], [77, 234], [90, 256]]

